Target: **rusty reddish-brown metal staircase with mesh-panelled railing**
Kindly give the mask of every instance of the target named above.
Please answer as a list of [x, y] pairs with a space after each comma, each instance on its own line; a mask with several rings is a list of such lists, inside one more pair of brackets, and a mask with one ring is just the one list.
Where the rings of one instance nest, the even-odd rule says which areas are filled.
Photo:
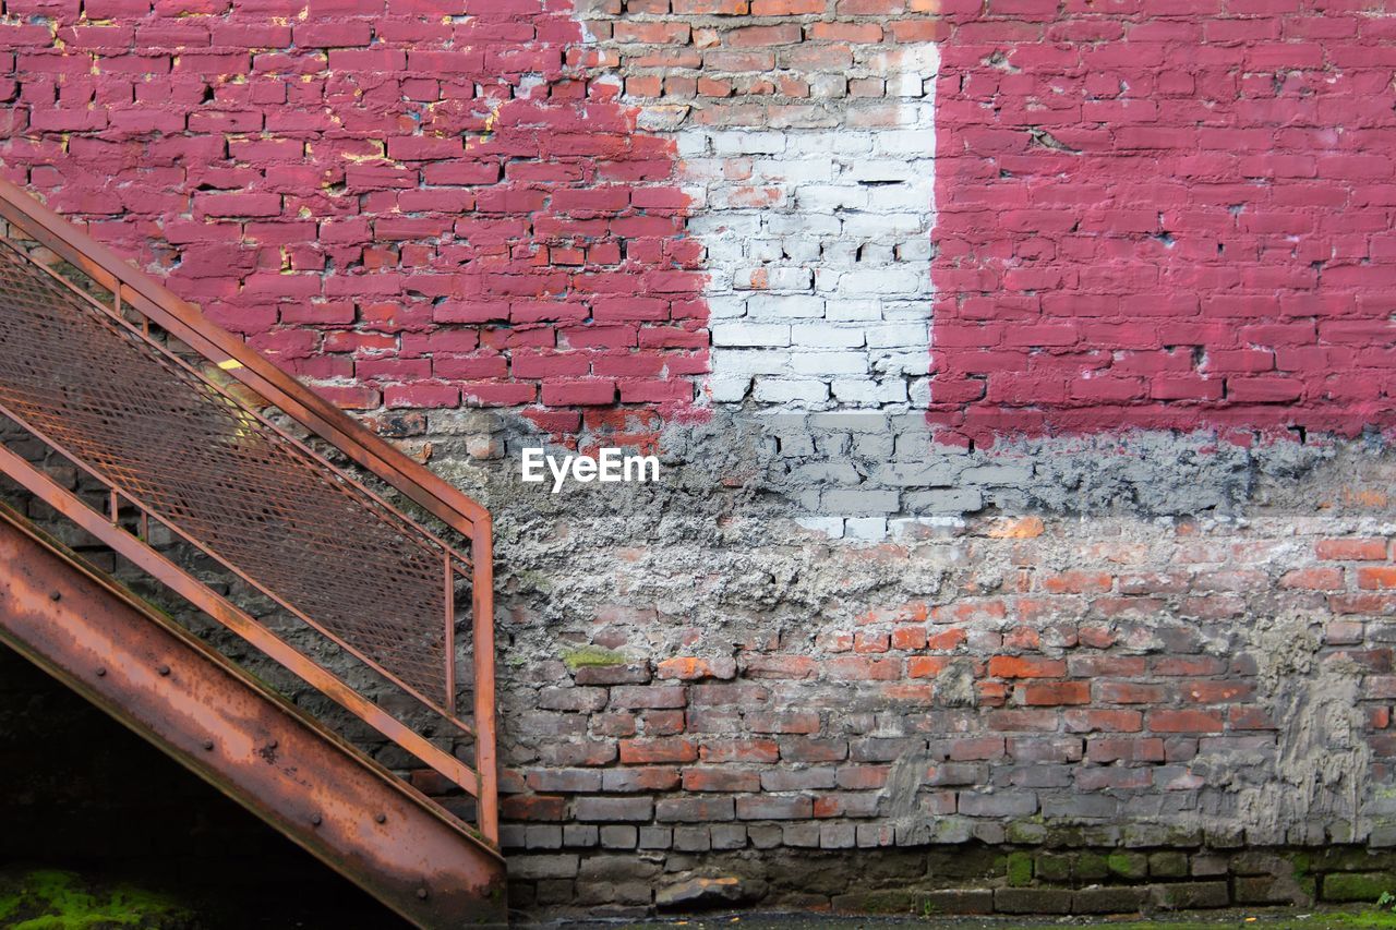
[[409, 922], [503, 923], [487, 511], [4, 182], [0, 219], [0, 475], [476, 825], [8, 508], [0, 641]]

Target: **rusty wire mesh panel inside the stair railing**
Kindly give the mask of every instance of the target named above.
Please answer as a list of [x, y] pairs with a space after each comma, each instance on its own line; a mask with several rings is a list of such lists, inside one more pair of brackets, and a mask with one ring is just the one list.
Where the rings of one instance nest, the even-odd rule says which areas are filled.
[[0, 243], [0, 406], [440, 708], [447, 550], [212, 373]]

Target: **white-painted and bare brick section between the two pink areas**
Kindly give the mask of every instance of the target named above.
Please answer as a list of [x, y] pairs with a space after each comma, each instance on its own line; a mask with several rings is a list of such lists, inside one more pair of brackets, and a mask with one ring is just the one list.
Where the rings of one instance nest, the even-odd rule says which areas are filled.
[[602, 3], [584, 15], [627, 99], [683, 159], [708, 272], [706, 397], [924, 408], [938, 24], [825, 6]]

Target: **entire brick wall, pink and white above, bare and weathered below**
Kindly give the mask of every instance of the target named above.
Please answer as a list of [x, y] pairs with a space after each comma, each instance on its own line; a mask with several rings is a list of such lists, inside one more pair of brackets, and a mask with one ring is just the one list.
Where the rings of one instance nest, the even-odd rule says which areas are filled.
[[[1396, 838], [1350, 7], [20, 0], [0, 161], [491, 507], [521, 905], [1342, 899]], [[603, 438], [664, 480], [519, 483]]]

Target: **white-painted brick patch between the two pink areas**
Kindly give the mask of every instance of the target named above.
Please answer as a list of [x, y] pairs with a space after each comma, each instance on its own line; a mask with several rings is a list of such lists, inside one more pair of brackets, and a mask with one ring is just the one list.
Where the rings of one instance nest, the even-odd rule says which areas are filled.
[[[708, 251], [713, 402], [779, 409], [927, 404], [935, 74], [888, 56], [886, 98], [828, 128], [684, 127], [688, 230]], [[861, 126], [860, 103], [895, 103]]]

